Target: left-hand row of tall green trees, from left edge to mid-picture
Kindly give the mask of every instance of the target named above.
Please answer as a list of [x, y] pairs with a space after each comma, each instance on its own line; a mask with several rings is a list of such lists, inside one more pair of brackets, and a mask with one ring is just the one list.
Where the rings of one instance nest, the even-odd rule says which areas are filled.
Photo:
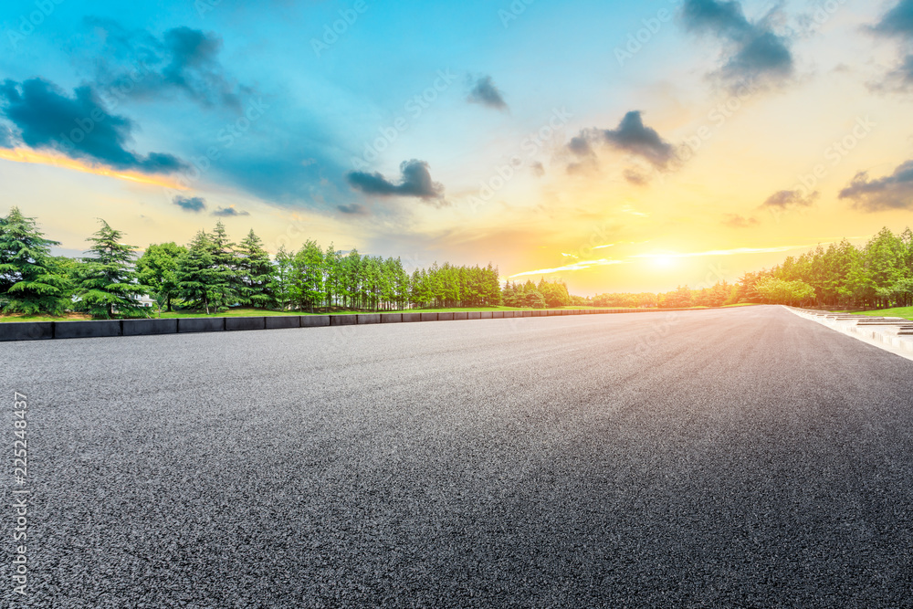
[[100, 220], [85, 257], [52, 256], [59, 243], [13, 207], [0, 217], [0, 310], [143, 317], [143, 295], [165, 310], [180, 305], [206, 313], [236, 306], [326, 312], [501, 304], [498, 268], [490, 263], [435, 263], [410, 274], [398, 257], [362, 256], [332, 245], [324, 250], [312, 240], [295, 252], [280, 248], [273, 258], [253, 230], [234, 243], [221, 222], [186, 246], [152, 244], [142, 255], [122, 239], [121, 231]]

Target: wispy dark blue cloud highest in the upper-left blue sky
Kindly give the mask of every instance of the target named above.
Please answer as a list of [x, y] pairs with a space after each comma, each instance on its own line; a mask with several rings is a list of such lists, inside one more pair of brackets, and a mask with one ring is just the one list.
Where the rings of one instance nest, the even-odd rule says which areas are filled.
[[240, 94], [252, 92], [226, 76], [218, 58], [222, 38], [211, 32], [174, 27], [158, 38], [110, 20], [89, 24], [104, 40], [105, 59], [97, 62], [100, 86], [137, 99], [183, 94], [205, 107], [233, 110], [241, 108]]

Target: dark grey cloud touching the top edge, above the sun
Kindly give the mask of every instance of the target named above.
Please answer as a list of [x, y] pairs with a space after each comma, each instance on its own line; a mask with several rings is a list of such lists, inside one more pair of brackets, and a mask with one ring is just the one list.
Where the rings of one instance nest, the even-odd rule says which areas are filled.
[[717, 37], [725, 43], [727, 58], [719, 77], [730, 87], [764, 80], [779, 83], [792, 77], [794, 61], [789, 39], [777, 35], [766, 18], [750, 22], [740, 2], [686, 0], [681, 19], [687, 31]]

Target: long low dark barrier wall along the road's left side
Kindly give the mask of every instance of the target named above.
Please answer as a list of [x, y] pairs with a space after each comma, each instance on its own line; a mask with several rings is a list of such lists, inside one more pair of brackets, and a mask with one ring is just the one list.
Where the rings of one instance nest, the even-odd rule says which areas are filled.
[[559, 315], [645, 312], [663, 313], [685, 310], [689, 309], [496, 310], [471, 312], [352, 313], [345, 315], [270, 315], [264, 317], [201, 317], [149, 320], [14, 321], [10, 323], [0, 323], [0, 341], [40, 341], [47, 339], [107, 336], [146, 336], [152, 334], [184, 332], [274, 330], [281, 328], [315, 328], [413, 321], [498, 320], [505, 318], [551, 317]]

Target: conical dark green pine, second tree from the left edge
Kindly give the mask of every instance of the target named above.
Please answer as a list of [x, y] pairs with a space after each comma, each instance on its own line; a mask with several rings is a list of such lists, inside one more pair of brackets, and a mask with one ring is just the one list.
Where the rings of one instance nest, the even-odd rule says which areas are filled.
[[147, 289], [138, 282], [133, 266], [136, 247], [121, 243], [123, 233], [100, 222], [100, 229], [86, 239], [92, 244], [86, 252], [91, 256], [82, 258], [78, 270], [77, 308], [104, 320], [147, 317], [139, 304]]

